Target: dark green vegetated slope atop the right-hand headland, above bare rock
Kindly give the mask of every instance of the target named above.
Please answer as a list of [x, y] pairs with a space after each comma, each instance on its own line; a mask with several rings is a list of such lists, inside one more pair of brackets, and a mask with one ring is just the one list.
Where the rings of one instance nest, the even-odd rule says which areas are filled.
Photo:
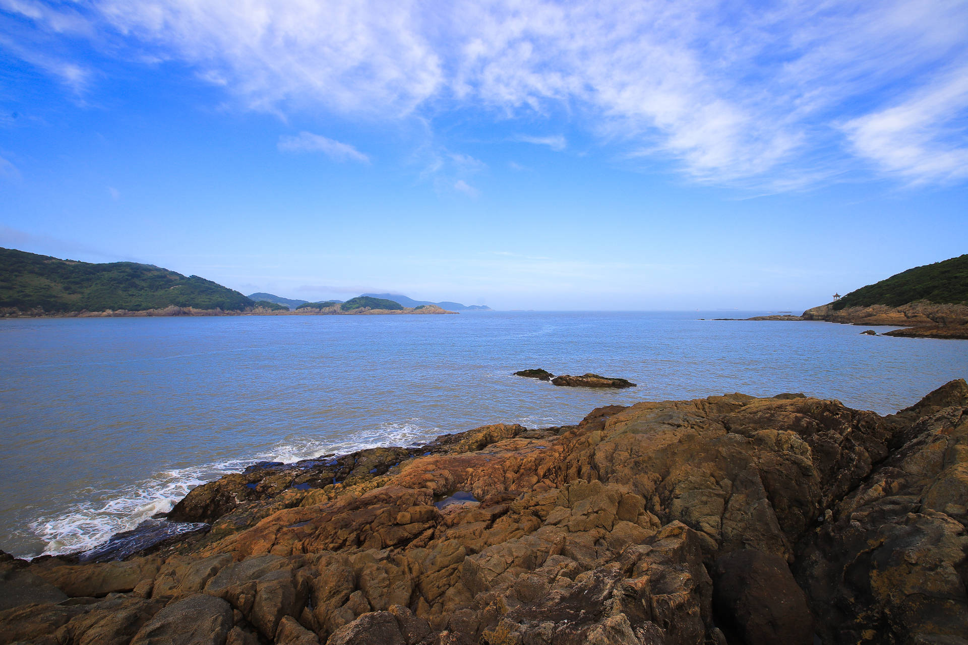
[[938, 305], [968, 304], [968, 253], [868, 284], [832, 303], [832, 308], [900, 307], [919, 300]]

